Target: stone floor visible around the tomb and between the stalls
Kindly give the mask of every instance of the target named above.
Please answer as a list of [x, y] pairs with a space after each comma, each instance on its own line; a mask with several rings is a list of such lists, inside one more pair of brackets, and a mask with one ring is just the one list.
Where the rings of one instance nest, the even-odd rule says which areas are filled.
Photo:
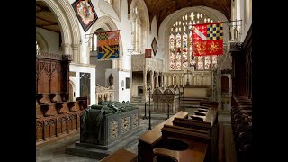
[[[193, 109], [185, 110], [186, 112], [193, 112]], [[144, 116], [144, 114], [142, 114]], [[162, 121], [166, 121], [166, 114], [151, 114], [151, 127], [157, 125]], [[234, 142], [232, 132], [230, 128], [230, 116], [229, 114], [219, 114], [219, 121], [221, 122], [222, 128], [222, 154], [223, 157], [220, 161], [222, 162], [236, 162], [236, 156], [234, 152]], [[142, 133], [148, 130], [148, 120], [140, 119], [140, 127], [142, 127]], [[68, 137], [66, 139], [60, 139], [57, 142], [43, 145], [36, 148], [36, 161], [37, 162], [58, 162], [58, 161], [71, 161], [71, 162], [97, 162], [98, 160], [87, 157], [78, 157], [73, 155], [65, 154], [65, 148], [80, 139], [79, 133]], [[137, 154], [138, 141], [135, 140], [130, 143], [127, 150]]]

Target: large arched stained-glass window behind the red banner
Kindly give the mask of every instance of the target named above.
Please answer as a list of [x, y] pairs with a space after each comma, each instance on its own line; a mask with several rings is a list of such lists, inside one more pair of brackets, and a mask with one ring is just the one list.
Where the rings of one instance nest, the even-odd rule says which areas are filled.
[[195, 70], [211, 70], [218, 64], [218, 56], [197, 57], [192, 55], [192, 25], [198, 23], [213, 23], [206, 14], [189, 12], [175, 21], [169, 32], [169, 70], [184, 70], [194, 67]]

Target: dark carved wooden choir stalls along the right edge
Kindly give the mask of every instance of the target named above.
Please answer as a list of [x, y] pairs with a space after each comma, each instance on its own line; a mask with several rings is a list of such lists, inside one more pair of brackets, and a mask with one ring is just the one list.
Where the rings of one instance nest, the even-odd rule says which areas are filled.
[[231, 43], [231, 126], [238, 162], [252, 161], [252, 25], [243, 43]]

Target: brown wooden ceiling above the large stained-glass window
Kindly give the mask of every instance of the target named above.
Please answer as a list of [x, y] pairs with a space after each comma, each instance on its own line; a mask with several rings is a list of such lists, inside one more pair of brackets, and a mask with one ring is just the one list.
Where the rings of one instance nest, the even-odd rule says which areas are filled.
[[[231, 18], [231, 0], [143, 0], [148, 8], [149, 22], [151, 24], [154, 16], [159, 27], [169, 14], [185, 7], [207, 6], [220, 11], [228, 21]], [[132, 0], [128, 0], [130, 8]], [[129, 12], [129, 11], [128, 11]]]

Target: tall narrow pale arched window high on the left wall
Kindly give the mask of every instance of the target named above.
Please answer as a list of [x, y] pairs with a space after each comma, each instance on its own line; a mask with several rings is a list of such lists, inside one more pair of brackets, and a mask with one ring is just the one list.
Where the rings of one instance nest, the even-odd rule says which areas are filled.
[[141, 28], [141, 19], [139, 15], [139, 9], [136, 6], [133, 8], [132, 13], [132, 40], [133, 40], [133, 49], [140, 49], [142, 47], [142, 28]]

